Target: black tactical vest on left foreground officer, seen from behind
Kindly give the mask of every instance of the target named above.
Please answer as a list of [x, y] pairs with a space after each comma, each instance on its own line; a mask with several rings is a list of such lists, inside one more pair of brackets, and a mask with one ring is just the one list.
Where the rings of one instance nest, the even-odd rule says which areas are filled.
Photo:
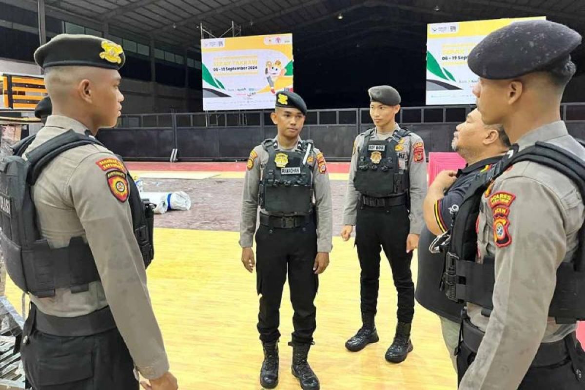
[[[21, 156], [35, 137], [13, 145], [13, 156], [0, 161], [0, 246], [6, 270], [20, 289], [39, 298], [55, 296], [57, 288], [69, 288], [73, 293], [88, 291], [90, 282], [99, 281], [90, 246], [82, 237], [73, 237], [67, 247], [51, 248], [37, 226], [31, 189], [43, 168], [59, 154], [101, 143], [69, 130], [27, 152], [25, 160]], [[127, 178], [135, 236], [147, 267], [154, 255], [153, 211], [140, 199], [132, 177]]]

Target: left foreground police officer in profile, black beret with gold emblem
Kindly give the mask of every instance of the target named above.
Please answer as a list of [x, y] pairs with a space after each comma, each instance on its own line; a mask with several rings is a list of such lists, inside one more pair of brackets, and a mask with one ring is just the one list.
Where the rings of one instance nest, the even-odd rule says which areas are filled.
[[[150, 380], [145, 388], [177, 389], [146, 287], [128, 172], [91, 137], [120, 115], [122, 47], [61, 34], [37, 49], [35, 61], [46, 72], [53, 115], [24, 157], [32, 163], [64, 136], [86, 144], [54, 157], [32, 186], [46, 241], [22, 255], [24, 277], [11, 273], [18, 264], [5, 251], [11, 277], [30, 291], [21, 350], [27, 381], [33, 389], [137, 389], [136, 366]], [[16, 237], [6, 237], [4, 225], [3, 232], [6, 248]]]

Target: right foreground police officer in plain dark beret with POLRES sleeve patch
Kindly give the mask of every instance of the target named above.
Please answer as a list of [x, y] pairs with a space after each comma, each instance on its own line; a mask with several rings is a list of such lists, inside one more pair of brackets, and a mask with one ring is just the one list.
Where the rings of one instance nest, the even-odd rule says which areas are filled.
[[[580, 42], [569, 27], [533, 20], [496, 30], [470, 53], [469, 67], [480, 77], [473, 93], [483, 122], [501, 123], [513, 149], [504, 158], [511, 167], [480, 195], [479, 258], [472, 264], [494, 264], [493, 308], [490, 313], [487, 306], [467, 304], [457, 356], [460, 389], [585, 388], [576, 319], [549, 317], [558, 304], [576, 303], [579, 316], [583, 312], [582, 298], [552, 301], [553, 294], [576, 287], [556, 285], [576, 274], [572, 263], [583, 256], [577, 250], [584, 244], [583, 199], [576, 182], [559, 174], [562, 167], [544, 165], [545, 159], [512, 163], [539, 142], [549, 145], [543, 149], [569, 152], [580, 161], [574, 165], [585, 160], [585, 149], [569, 136], [559, 113], [576, 70], [569, 53]], [[459, 218], [464, 215], [457, 215], [455, 228]], [[568, 274], [557, 273], [567, 265]]]

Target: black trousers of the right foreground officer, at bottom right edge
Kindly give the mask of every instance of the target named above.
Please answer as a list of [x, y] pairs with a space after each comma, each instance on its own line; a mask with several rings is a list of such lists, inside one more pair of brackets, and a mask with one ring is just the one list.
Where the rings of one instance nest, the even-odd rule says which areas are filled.
[[[530, 367], [518, 386], [521, 390], [583, 390], [585, 389], [585, 353], [577, 341], [575, 346], [572, 335], [565, 337], [569, 354], [563, 361], [546, 367]], [[475, 360], [476, 354], [460, 343], [457, 354], [457, 384], [463, 379], [467, 368]]]

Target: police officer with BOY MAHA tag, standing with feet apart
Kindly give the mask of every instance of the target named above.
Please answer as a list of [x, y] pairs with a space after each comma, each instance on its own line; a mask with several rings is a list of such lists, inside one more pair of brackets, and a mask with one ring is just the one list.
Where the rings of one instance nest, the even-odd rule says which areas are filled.
[[422, 229], [422, 200], [426, 193], [426, 159], [421, 137], [401, 129], [394, 116], [400, 94], [388, 85], [369, 89], [370, 116], [375, 127], [356, 137], [347, 182], [341, 236], [349, 240], [356, 226], [356, 246], [362, 274], [362, 328], [346, 348], [360, 351], [378, 341], [374, 316], [378, 301], [380, 246], [390, 261], [398, 292], [398, 324], [386, 352], [391, 363], [404, 361], [412, 351], [410, 330], [414, 315], [412, 251]]

